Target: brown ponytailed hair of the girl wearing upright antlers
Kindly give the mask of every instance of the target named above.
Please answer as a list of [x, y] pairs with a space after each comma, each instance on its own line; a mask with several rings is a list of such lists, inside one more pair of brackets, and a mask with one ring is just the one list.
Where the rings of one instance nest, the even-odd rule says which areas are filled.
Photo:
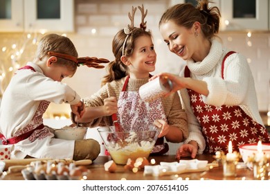
[[[108, 74], [102, 79], [101, 85], [105, 85], [107, 82], [111, 82], [113, 80], [119, 80], [128, 75], [128, 68], [120, 59], [122, 55], [127, 57], [132, 55], [134, 51], [134, 42], [141, 36], [149, 36], [152, 38], [152, 33], [150, 31], [146, 31], [144, 28], [134, 28], [128, 37], [127, 34], [125, 34], [124, 29], [116, 33], [112, 42], [112, 51], [114, 53], [115, 60], [107, 65], [106, 68]], [[125, 43], [124, 53], [122, 53], [126, 37], [127, 42]]]

